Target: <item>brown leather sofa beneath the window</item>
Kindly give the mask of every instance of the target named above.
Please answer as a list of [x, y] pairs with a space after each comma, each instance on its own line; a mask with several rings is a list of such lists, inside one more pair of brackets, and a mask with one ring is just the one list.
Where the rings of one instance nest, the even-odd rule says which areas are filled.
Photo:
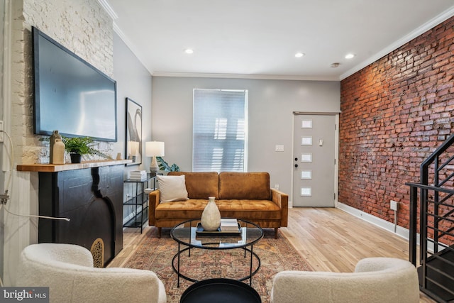
[[150, 192], [148, 225], [173, 227], [182, 221], [200, 219], [208, 197], [216, 197], [223, 218], [251, 221], [262, 228], [287, 226], [288, 195], [270, 189], [267, 172], [169, 172], [184, 175], [189, 199], [160, 203], [160, 190]]

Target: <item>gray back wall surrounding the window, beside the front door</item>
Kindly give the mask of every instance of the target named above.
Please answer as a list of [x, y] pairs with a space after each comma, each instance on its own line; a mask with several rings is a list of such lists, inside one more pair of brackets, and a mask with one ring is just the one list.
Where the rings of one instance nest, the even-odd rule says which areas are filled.
[[[192, 170], [192, 93], [248, 89], [248, 171], [270, 172], [271, 185], [290, 194], [293, 111], [339, 112], [340, 82], [153, 77], [153, 140], [165, 142], [165, 160]], [[284, 152], [275, 152], [275, 145]]]

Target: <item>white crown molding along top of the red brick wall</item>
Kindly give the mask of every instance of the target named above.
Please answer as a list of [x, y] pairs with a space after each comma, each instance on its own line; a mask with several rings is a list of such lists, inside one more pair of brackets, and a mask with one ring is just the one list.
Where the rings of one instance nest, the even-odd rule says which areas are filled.
[[438, 26], [438, 24], [442, 23], [443, 21], [448, 20], [448, 18], [451, 18], [452, 16], [454, 16], [454, 6], [451, 7], [450, 9], [448, 9], [447, 11], [444, 11], [440, 15], [436, 16], [435, 18], [432, 18], [428, 22], [424, 23], [422, 26], [419, 26], [419, 28], [416, 28], [414, 31], [411, 31], [408, 35], [404, 35], [404, 37], [395, 41], [394, 43], [389, 45], [387, 48], [384, 48], [383, 50], [376, 53], [372, 57], [369, 57], [367, 60], [362, 61], [360, 64], [351, 68], [347, 72], [344, 72], [339, 77], [339, 80], [343, 80], [346, 77], [350, 77], [355, 72], [362, 70], [367, 65], [370, 65], [373, 62], [379, 60], [381, 57], [384, 57], [385, 55], [391, 53], [393, 50], [397, 50], [397, 48], [400, 48], [405, 43], [408, 43], [409, 41], [413, 40], [414, 38], [418, 37], [419, 35], [426, 33], [426, 31], [429, 31], [431, 28]]

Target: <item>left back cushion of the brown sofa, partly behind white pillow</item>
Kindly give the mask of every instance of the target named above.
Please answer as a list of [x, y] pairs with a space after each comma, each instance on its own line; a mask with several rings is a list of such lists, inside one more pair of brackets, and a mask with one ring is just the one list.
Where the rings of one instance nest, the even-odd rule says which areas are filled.
[[167, 175], [186, 176], [186, 189], [189, 199], [219, 199], [217, 172], [169, 172]]

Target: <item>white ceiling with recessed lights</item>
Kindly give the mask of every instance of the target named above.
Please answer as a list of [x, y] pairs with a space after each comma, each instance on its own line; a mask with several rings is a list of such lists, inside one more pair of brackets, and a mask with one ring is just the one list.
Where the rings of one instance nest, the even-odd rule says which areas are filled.
[[99, 2], [158, 76], [336, 81], [454, 16], [454, 0]]

